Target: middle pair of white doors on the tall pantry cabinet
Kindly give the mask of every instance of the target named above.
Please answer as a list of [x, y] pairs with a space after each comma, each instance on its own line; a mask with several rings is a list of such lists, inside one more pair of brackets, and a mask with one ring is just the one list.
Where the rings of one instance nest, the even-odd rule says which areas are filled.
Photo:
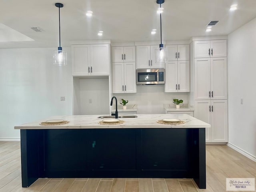
[[194, 60], [195, 100], [227, 99], [227, 58]]

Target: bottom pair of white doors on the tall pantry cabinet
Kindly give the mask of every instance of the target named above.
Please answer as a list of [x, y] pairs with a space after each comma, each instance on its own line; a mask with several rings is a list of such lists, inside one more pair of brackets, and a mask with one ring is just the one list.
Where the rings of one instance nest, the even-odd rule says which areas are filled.
[[195, 100], [195, 118], [211, 125], [206, 128], [206, 142], [228, 142], [227, 100]]

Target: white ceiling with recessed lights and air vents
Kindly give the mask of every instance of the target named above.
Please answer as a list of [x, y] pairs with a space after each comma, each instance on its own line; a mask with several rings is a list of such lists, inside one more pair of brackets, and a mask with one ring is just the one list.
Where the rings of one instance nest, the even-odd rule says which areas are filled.
[[[15, 33], [7, 35], [0, 28], [0, 48], [58, 47], [56, 2], [64, 4], [60, 9], [62, 46], [70, 46], [74, 40], [160, 41], [156, 0], [0, 0], [1, 26], [34, 40], [20, 41]], [[232, 4], [238, 4], [238, 9], [230, 12]], [[256, 0], [165, 0], [162, 7], [163, 41], [227, 35], [256, 18]], [[86, 17], [87, 10], [93, 11], [91, 18]], [[211, 20], [219, 22], [206, 33]], [[35, 26], [44, 31], [30, 29]], [[152, 29], [157, 29], [154, 36]], [[99, 30], [104, 31], [103, 36], [97, 35]]]

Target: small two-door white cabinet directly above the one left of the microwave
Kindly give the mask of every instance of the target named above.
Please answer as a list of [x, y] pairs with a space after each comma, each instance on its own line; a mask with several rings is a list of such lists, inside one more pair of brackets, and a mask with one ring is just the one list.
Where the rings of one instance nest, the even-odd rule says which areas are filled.
[[135, 62], [135, 46], [112, 47], [112, 62]]

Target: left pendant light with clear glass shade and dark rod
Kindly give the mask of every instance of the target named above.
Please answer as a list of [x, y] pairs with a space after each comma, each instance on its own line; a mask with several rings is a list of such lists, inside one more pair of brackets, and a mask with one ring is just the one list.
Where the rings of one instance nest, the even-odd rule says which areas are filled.
[[[59, 36], [60, 36], [60, 8], [63, 7], [63, 4], [56, 3], [55, 6], [59, 8]], [[61, 46], [58, 47], [58, 50], [54, 50], [53, 64], [58, 66], [67, 65], [67, 52], [62, 50]]]

